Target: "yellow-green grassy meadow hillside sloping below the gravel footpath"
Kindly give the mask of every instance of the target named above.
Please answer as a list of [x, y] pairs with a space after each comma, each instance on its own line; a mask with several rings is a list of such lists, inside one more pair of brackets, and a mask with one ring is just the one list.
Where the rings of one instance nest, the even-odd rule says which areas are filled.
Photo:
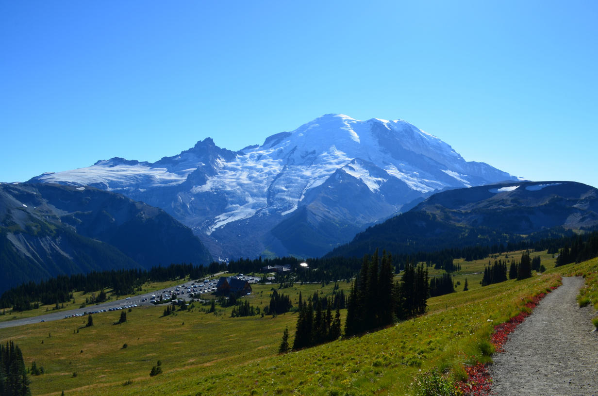
[[[520, 254], [511, 257], [518, 260]], [[551, 256], [543, 258], [546, 267], [553, 267]], [[123, 396], [405, 394], [419, 370], [451, 368], [462, 375], [463, 364], [489, 361], [493, 325], [524, 309], [527, 297], [550, 290], [560, 272], [585, 271], [590, 279], [598, 266], [594, 259], [524, 281], [481, 287], [482, 274], [475, 272], [483, 272], [487, 261], [460, 262], [457, 293], [430, 298], [425, 316], [286, 355], [278, 355], [277, 349], [287, 325], [294, 333], [296, 314], [230, 318], [230, 307], [215, 315], [197, 303], [190, 311], [166, 317], [162, 306], [139, 307], [120, 325], [114, 324], [120, 312], [94, 315], [94, 326], [79, 333], [87, 318], [7, 328], [0, 330], [0, 342], [14, 340], [27, 365], [36, 361], [44, 367], [45, 374], [32, 377], [35, 395], [63, 390], [67, 395]], [[432, 270], [431, 275], [437, 274]], [[470, 290], [463, 292], [465, 277]], [[349, 284], [340, 285], [347, 293]], [[333, 286], [295, 284], [282, 292], [296, 304], [299, 291], [304, 297], [316, 290], [327, 294]], [[270, 288], [256, 285], [247, 298], [263, 307]], [[163, 373], [150, 377], [158, 360]]]

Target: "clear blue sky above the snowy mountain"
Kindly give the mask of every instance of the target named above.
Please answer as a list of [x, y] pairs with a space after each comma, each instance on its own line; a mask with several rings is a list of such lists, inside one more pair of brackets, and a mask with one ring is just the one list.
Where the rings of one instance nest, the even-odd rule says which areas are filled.
[[322, 114], [598, 187], [596, 1], [3, 1], [0, 181]]

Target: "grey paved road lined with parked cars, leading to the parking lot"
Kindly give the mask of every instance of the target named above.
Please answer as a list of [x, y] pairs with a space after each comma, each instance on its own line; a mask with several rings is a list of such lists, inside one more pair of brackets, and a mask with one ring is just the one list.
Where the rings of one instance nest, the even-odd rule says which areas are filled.
[[[190, 286], [192, 282], [193, 281], [187, 281], [181, 285], [185, 285], [185, 287], [187, 287], [187, 286]], [[164, 290], [165, 289], [160, 289], [160, 290], [151, 291], [149, 293], [140, 294], [139, 296], [131, 297], [130, 300], [123, 298], [122, 300], [108, 301], [103, 304], [88, 305], [85, 308], [61, 310], [60, 312], [46, 313], [44, 315], [33, 316], [32, 318], [15, 319], [14, 321], [1, 322], [0, 328], [16, 327], [16, 326], [22, 326], [22, 325], [26, 325], [26, 324], [39, 323], [42, 320], [44, 322], [57, 321], [58, 319], [63, 319], [65, 317], [65, 315], [70, 316], [70, 315], [75, 315], [77, 313], [83, 314], [84, 312], [90, 312], [90, 311], [93, 312], [93, 311], [100, 310], [100, 309], [108, 310], [109, 308], [122, 307], [122, 306], [127, 306], [127, 305], [132, 305], [132, 304], [137, 304], [138, 306], [153, 305], [150, 298], [154, 295], [156, 297], [160, 297], [160, 294], [164, 294]], [[168, 288], [168, 290], [175, 290], [175, 287], [170, 287], [170, 288]], [[181, 290], [183, 290], [183, 289], [181, 289]], [[185, 293], [186, 293], [186, 291], [185, 291]], [[185, 294], [184, 296], [178, 296], [178, 297], [179, 298], [185, 297], [186, 300], [188, 300], [190, 298], [190, 297], [188, 297], [188, 294]], [[141, 300], [143, 298], [147, 298], [148, 300], [142, 302]], [[102, 313], [97, 313], [97, 315], [102, 315]]]

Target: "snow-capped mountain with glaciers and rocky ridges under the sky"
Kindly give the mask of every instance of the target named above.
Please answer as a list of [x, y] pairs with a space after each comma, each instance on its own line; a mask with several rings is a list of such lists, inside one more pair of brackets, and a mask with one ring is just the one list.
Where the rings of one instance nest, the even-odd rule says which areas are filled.
[[212, 139], [155, 163], [121, 158], [31, 182], [90, 185], [158, 206], [214, 257], [322, 255], [444, 188], [516, 180], [403, 120], [327, 114], [236, 153]]

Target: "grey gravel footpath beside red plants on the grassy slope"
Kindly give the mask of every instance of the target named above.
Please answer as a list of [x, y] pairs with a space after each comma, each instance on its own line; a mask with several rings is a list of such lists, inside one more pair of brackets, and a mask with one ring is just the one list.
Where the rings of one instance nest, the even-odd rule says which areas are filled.
[[575, 297], [581, 276], [563, 278], [563, 285], [539, 303], [509, 336], [505, 353], [490, 367], [497, 395], [598, 396], [598, 334], [591, 306], [579, 309]]

